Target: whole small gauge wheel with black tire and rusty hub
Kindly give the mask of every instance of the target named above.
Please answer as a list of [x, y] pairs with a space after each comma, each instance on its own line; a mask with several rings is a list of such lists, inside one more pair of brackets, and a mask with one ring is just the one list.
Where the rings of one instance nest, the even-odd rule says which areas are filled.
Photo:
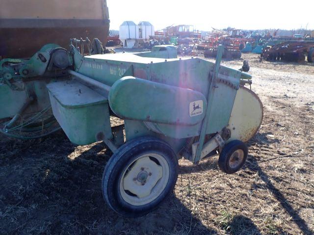
[[242, 141], [231, 141], [222, 149], [219, 158], [219, 168], [227, 174], [233, 174], [245, 164], [248, 149]]

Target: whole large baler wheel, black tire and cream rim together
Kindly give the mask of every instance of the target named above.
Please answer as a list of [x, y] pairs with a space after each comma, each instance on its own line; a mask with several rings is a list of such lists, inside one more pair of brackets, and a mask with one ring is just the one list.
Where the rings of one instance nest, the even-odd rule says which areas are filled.
[[103, 174], [103, 195], [117, 213], [138, 217], [157, 208], [173, 190], [178, 159], [169, 144], [141, 137], [122, 145]]

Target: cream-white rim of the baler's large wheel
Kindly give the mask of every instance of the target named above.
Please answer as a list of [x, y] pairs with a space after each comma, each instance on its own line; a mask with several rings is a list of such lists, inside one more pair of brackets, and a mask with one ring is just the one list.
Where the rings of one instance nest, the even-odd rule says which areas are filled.
[[120, 180], [121, 196], [133, 206], [146, 205], [163, 192], [169, 177], [170, 167], [162, 155], [143, 154], [123, 172]]

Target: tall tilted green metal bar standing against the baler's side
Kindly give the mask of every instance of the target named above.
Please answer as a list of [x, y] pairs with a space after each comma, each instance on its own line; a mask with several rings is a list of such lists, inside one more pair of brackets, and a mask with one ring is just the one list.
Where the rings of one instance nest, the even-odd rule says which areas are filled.
[[207, 130], [207, 126], [209, 123], [209, 117], [210, 117], [210, 114], [212, 112], [212, 110], [211, 110], [212, 105], [211, 104], [212, 104], [212, 100], [213, 100], [214, 93], [215, 93], [215, 79], [218, 77], [218, 72], [220, 69], [220, 63], [221, 63], [223, 52], [224, 52], [224, 47], [222, 45], [219, 45], [218, 51], [217, 51], [216, 63], [215, 63], [215, 67], [214, 67], [214, 72], [212, 74], [212, 79], [211, 79], [211, 82], [209, 84], [209, 93], [208, 93], [208, 98], [207, 98], [206, 115], [205, 115], [205, 118], [203, 119], [203, 123], [202, 123], [202, 129], [201, 129], [199, 144], [197, 146], [195, 159], [193, 161], [194, 164], [197, 164], [201, 158], [201, 153], [203, 150], [206, 130]]

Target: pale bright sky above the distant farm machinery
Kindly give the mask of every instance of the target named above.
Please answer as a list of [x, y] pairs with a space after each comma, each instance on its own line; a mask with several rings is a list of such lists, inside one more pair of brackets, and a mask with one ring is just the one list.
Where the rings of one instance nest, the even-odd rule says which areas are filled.
[[124, 21], [149, 21], [155, 29], [171, 24], [193, 24], [240, 29], [314, 30], [314, 0], [107, 0], [110, 29]]

